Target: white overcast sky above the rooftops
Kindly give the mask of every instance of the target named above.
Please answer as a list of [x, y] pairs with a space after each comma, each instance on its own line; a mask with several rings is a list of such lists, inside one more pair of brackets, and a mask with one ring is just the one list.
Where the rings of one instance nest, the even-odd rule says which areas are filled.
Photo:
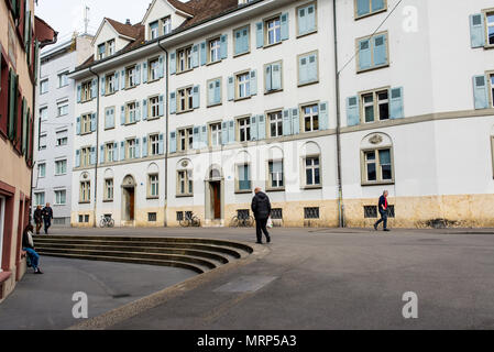
[[[185, 0], [180, 0], [185, 2]], [[84, 8], [89, 10], [89, 33], [96, 33], [103, 18], [140, 22], [152, 0], [39, 0], [35, 14], [58, 32], [58, 43], [74, 31], [84, 32]]]

